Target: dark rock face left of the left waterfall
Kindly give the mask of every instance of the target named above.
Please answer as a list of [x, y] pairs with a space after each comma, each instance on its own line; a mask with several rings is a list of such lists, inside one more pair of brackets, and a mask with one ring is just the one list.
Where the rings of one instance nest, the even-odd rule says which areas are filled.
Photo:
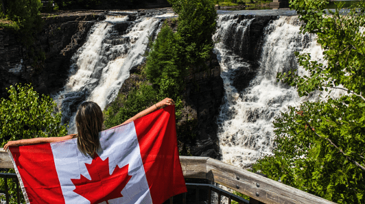
[[[43, 64], [28, 58], [31, 49], [17, 42], [12, 31], [0, 30], [1, 97], [5, 88], [16, 83], [32, 83], [41, 94], [57, 91], [64, 85], [73, 53], [82, 46], [95, 21], [104, 20], [103, 13], [80, 13], [45, 17], [43, 30], [36, 37], [34, 47], [45, 54]], [[33, 48], [34, 49], [34, 48]]]

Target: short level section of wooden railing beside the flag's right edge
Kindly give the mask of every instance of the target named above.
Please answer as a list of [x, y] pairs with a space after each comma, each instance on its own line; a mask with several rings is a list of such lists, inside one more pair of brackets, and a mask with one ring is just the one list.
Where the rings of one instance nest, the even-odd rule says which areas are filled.
[[209, 157], [180, 156], [181, 168], [185, 178], [206, 179]]

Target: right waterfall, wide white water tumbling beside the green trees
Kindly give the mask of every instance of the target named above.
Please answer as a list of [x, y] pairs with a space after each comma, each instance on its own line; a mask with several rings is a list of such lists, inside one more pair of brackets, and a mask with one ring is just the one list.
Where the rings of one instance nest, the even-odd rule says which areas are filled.
[[[214, 36], [221, 39], [215, 46], [215, 53], [221, 65], [225, 90], [224, 104], [217, 118], [222, 160], [242, 168], [272, 153], [274, 116], [287, 110], [288, 105], [320, 98], [318, 93], [310, 99], [301, 99], [295, 88], [276, 82], [279, 72], [298, 68], [298, 74], [306, 73], [298, 66], [294, 51], [311, 53], [315, 60], [322, 59], [322, 49], [316, 44], [316, 36], [301, 34], [301, 24], [296, 16], [281, 16], [269, 23], [264, 29], [255, 77], [246, 82], [248, 86], [242, 91], [233, 86], [237, 71], [250, 70], [253, 65], [231, 49], [237, 46], [226, 44], [227, 40], [224, 39], [239, 34], [244, 41], [251, 22], [252, 19], [239, 22], [235, 16], [219, 16]], [[240, 41], [236, 39], [235, 42]]]

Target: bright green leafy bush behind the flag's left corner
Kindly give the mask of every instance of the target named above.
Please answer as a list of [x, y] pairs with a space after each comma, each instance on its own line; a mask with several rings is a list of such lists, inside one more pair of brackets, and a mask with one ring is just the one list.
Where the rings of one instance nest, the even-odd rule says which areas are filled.
[[[8, 140], [27, 138], [65, 136], [67, 126], [60, 125], [60, 112], [55, 112], [56, 103], [48, 97], [40, 97], [30, 85], [10, 86], [8, 99], [0, 102], [0, 140], [4, 146]], [[4, 173], [14, 173], [7, 170]], [[5, 190], [3, 179], [0, 180], [0, 189]], [[11, 195], [16, 195], [16, 184], [8, 180], [8, 189]], [[24, 203], [23, 196], [21, 202]], [[10, 203], [16, 203], [16, 198], [10, 196]]]

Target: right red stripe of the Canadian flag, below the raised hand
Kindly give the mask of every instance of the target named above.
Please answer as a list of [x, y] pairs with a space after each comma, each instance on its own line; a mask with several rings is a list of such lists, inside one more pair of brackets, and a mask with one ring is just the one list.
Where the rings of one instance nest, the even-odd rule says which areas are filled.
[[134, 120], [145, 175], [155, 204], [187, 192], [176, 139], [175, 106]]

